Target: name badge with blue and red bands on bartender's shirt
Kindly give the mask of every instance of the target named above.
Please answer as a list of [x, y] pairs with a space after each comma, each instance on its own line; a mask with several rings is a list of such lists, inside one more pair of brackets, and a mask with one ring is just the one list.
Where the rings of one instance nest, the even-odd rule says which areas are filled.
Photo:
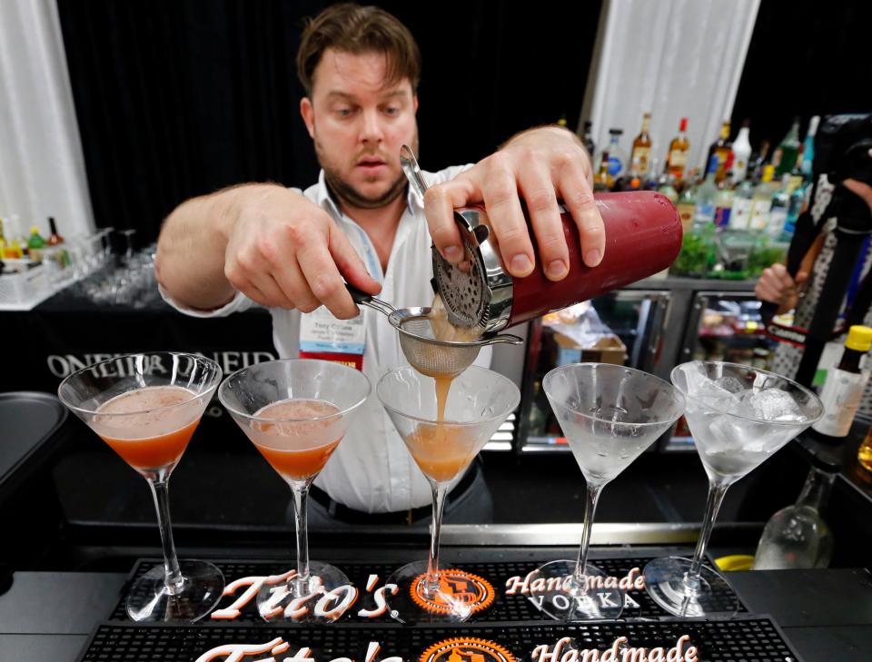
[[336, 361], [363, 370], [363, 313], [337, 320], [325, 306], [300, 316], [300, 358]]

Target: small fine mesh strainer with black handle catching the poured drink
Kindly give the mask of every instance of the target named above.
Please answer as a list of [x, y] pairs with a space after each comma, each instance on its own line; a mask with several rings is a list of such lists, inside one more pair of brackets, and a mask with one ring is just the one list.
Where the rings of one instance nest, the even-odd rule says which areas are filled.
[[387, 315], [391, 326], [400, 333], [400, 347], [406, 361], [416, 371], [430, 377], [456, 377], [472, 365], [485, 345], [507, 342], [517, 345], [523, 342], [518, 336], [502, 333], [498, 336], [480, 338], [476, 341], [438, 341], [433, 335], [430, 308], [396, 309], [387, 301], [381, 301], [346, 285], [355, 303]]

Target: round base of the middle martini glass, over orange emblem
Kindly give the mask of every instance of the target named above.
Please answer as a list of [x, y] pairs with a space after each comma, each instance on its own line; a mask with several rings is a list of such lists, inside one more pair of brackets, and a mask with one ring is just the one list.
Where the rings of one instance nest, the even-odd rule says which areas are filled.
[[437, 577], [438, 582], [429, 586], [427, 561], [395, 570], [388, 584], [396, 585], [397, 592], [385, 594], [391, 618], [408, 625], [460, 623], [493, 603], [493, 587], [478, 575], [443, 566]]

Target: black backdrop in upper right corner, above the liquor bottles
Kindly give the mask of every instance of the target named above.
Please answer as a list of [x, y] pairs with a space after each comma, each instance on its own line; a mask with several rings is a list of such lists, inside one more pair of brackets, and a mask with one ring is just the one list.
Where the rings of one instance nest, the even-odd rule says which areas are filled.
[[763, 0], [733, 106], [734, 136], [748, 118], [754, 148], [762, 140], [774, 148], [794, 115], [802, 140], [812, 115], [872, 111], [870, 25], [868, 0]]

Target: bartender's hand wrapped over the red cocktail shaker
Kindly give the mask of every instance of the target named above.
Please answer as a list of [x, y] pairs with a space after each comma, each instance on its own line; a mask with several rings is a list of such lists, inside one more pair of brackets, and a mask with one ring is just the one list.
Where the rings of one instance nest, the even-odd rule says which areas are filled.
[[520, 133], [451, 182], [431, 187], [425, 195], [433, 242], [449, 262], [462, 258], [461, 237], [453, 211], [483, 203], [512, 276], [530, 275], [537, 257], [521, 211], [527, 203], [538, 259], [551, 281], [569, 272], [569, 251], [560, 222], [558, 198], [579, 227], [581, 255], [589, 267], [605, 252], [605, 229], [593, 200], [590, 156], [578, 137], [558, 127]]

